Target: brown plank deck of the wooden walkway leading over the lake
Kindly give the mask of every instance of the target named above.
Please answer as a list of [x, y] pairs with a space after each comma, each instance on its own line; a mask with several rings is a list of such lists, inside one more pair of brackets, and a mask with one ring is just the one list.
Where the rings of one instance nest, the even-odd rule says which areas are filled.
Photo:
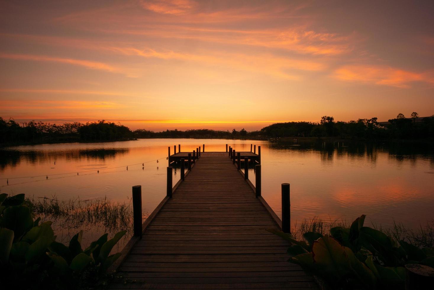
[[227, 152], [203, 152], [145, 222], [118, 267], [123, 278], [108, 289], [319, 289], [287, 262], [288, 242], [266, 231], [280, 227], [264, 202]]

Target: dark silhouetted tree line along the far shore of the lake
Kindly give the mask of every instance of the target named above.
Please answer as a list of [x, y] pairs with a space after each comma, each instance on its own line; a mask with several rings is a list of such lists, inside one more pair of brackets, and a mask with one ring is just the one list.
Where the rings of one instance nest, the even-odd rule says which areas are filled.
[[62, 142], [122, 141], [135, 138], [298, 138], [339, 137], [347, 139], [421, 139], [434, 138], [434, 115], [420, 118], [413, 112], [411, 118], [398, 114], [395, 119], [378, 123], [377, 118], [335, 122], [331, 116], [323, 116], [319, 123], [286, 122], [266, 126], [259, 131], [247, 132], [194, 129], [154, 132], [145, 129], [131, 131], [128, 127], [106, 122], [74, 122], [62, 125], [27, 122], [23, 126], [13, 119], [0, 117], [0, 144], [40, 144]]

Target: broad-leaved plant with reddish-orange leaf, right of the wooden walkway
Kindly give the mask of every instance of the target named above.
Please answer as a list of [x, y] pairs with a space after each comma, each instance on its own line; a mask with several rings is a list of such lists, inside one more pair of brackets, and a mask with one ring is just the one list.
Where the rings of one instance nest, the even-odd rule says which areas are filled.
[[[364, 226], [365, 215], [350, 227], [330, 228], [329, 235], [306, 232], [304, 240], [269, 230], [292, 245], [290, 262], [318, 275], [332, 289], [404, 289], [405, 265], [434, 267], [434, 249], [417, 247], [404, 240], [395, 241], [387, 234]], [[317, 221], [315, 221], [316, 224]]]

